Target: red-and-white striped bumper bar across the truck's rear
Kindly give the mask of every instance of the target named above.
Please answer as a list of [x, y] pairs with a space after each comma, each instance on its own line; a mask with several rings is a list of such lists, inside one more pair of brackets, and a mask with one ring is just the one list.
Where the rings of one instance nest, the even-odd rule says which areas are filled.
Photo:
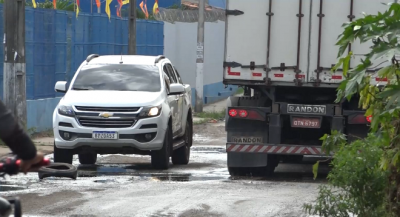
[[226, 152], [325, 155], [321, 147], [295, 145], [227, 144]]

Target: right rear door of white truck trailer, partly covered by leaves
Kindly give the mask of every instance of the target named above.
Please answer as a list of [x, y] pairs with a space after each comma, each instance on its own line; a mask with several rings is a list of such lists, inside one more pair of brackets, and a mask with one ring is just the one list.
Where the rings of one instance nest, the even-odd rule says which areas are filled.
[[[344, 79], [343, 72], [338, 70], [332, 74], [330, 69], [338, 61], [339, 47], [335, 44], [338, 35], [343, 32], [343, 23], [363, 17], [363, 13], [384, 12], [388, 6], [377, 0], [319, 0], [313, 1], [311, 4], [310, 75], [308, 81], [316, 82], [319, 79], [321, 83], [340, 83]], [[357, 42], [351, 45], [348, 51], [353, 51], [356, 56], [351, 60], [350, 67], [361, 63], [361, 58], [365, 58], [362, 55], [370, 51], [370, 46], [372, 46], [372, 42], [363, 45]], [[380, 65], [369, 70], [374, 77], [372, 83], [376, 83], [377, 69], [383, 66]]]

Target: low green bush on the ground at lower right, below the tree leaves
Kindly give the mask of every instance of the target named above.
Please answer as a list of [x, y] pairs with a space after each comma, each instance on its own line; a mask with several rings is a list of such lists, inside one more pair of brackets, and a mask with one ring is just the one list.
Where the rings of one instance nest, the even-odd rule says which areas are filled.
[[336, 133], [325, 140], [337, 145], [328, 175], [330, 185], [320, 187], [316, 203], [304, 206], [306, 212], [320, 216], [390, 216], [385, 210], [389, 172], [380, 164], [382, 137], [371, 133], [350, 145], [343, 138]]

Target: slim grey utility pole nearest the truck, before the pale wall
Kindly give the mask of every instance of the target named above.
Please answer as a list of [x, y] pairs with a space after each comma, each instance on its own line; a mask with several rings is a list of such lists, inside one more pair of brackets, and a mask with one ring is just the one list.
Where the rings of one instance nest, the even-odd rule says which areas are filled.
[[204, 71], [204, 9], [205, 0], [199, 0], [199, 21], [197, 25], [196, 59], [196, 106], [195, 112], [203, 112], [203, 71]]

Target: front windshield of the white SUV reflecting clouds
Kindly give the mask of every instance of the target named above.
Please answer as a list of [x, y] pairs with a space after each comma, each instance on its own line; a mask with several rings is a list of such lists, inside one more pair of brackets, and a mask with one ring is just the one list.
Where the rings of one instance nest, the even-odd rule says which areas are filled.
[[87, 65], [82, 67], [72, 89], [158, 92], [160, 73], [153, 65]]

